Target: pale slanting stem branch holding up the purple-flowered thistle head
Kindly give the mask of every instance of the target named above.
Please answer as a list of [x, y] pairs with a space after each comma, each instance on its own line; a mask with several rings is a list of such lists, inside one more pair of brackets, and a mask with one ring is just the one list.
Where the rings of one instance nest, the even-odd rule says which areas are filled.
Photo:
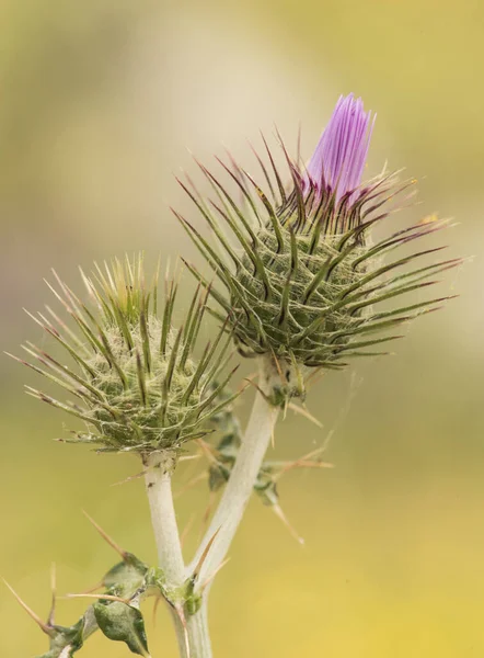
[[277, 407], [272, 406], [263, 394], [269, 395], [275, 381], [280, 382], [277, 372], [274, 372], [274, 370], [272, 360], [260, 360], [260, 388], [262, 393], [257, 393], [255, 396], [251, 418], [235, 465], [210, 526], [191, 565], [191, 572], [193, 572], [193, 569], [207, 551], [210, 541], [212, 541], [212, 545], [198, 572], [197, 581], [200, 586], [214, 577], [229, 551], [273, 435], [279, 410]]

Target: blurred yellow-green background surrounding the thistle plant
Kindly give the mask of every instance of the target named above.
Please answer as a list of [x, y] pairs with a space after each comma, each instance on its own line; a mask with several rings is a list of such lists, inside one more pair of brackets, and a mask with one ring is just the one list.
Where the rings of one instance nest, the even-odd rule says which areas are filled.
[[[306, 157], [339, 93], [378, 112], [369, 171], [388, 159], [419, 180], [422, 204], [458, 226], [445, 277], [460, 294], [415, 324], [395, 356], [330, 374], [311, 392], [320, 430], [289, 415], [276, 454], [300, 456], [334, 431], [332, 470], [295, 472], [283, 507], [299, 546], [254, 500], [212, 589], [216, 656], [481, 657], [484, 654], [483, 161], [481, 0], [2, 0], [0, 4], [1, 347], [43, 341], [22, 313], [51, 303], [56, 270], [145, 249], [197, 259], [168, 204], [195, 218], [172, 173], [227, 145], [254, 170], [246, 138], [274, 122]], [[385, 230], [391, 229], [387, 225]], [[186, 290], [189, 280], [186, 280]], [[59, 593], [94, 585], [115, 556], [81, 514], [154, 561], [135, 458], [51, 441], [59, 412], [22, 393], [38, 378], [1, 360], [0, 574], [39, 614], [49, 568]], [[246, 417], [250, 396], [241, 406]], [[176, 488], [191, 477], [181, 468]], [[204, 485], [178, 499], [199, 532]], [[149, 604], [150, 605], [150, 604]], [[151, 614], [147, 606], [147, 617]], [[72, 623], [84, 601], [59, 601]], [[0, 589], [0, 654], [46, 639]], [[175, 656], [165, 611], [153, 657]], [[93, 637], [91, 657], [128, 656]]]

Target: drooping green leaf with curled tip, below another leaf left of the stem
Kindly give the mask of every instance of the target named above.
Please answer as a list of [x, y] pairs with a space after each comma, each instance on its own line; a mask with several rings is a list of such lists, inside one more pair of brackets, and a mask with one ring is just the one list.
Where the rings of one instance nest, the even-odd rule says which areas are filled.
[[126, 643], [132, 654], [150, 656], [145, 622], [137, 608], [120, 601], [101, 600], [93, 609], [97, 625], [108, 639]]

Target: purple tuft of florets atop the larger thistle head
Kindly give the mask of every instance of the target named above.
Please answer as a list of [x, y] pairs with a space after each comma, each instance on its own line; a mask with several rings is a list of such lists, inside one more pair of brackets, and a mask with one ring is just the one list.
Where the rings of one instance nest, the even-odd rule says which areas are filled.
[[[314, 186], [321, 197], [334, 192], [336, 203], [354, 192], [361, 183], [365, 161], [370, 145], [374, 117], [364, 111], [361, 99], [353, 93], [339, 97], [333, 116], [325, 127], [308, 164], [306, 183]], [[358, 194], [350, 194], [350, 202]]]

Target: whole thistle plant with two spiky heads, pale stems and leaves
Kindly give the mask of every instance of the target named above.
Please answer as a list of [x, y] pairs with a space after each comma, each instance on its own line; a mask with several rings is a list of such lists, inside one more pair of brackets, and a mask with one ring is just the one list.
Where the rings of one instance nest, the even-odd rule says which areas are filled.
[[[24, 345], [27, 360], [15, 359], [70, 396], [57, 399], [27, 387], [83, 421], [85, 429], [73, 429], [65, 441], [139, 455], [158, 565], [119, 548], [96, 525], [122, 561], [73, 625], [55, 625], [54, 610], [46, 623], [34, 615], [50, 639], [44, 658], [73, 656], [97, 628], [134, 654], [150, 656], [140, 611], [147, 597], [168, 604], [182, 657], [209, 658], [209, 590], [251, 495], [285, 520], [280, 477], [296, 467], [330, 466], [322, 462], [323, 449], [292, 462], [266, 460], [280, 410], [291, 407], [311, 418], [303, 405], [315, 373], [387, 353], [380, 345], [401, 338], [395, 328], [450, 298], [407, 296], [437, 283], [437, 274], [461, 260], [440, 260], [441, 247], [414, 248], [446, 220], [431, 216], [410, 227], [390, 225], [415, 181], [400, 183], [396, 174], [383, 172], [362, 182], [373, 124], [360, 99], [342, 97], [307, 166], [299, 155], [289, 156], [278, 136], [284, 171], [264, 138], [266, 157], [254, 150], [263, 182], [232, 157], [218, 160], [223, 180], [199, 164], [211, 200], [191, 178], [180, 181], [211, 232], [174, 211], [206, 265], [185, 263], [197, 287], [181, 324], [176, 280], [166, 276], [160, 302], [158, 274], [147, 283], [141, 257], [96, 265], [90, 276], [81, 272], [87, 300], [56, 275], [50, 287], [69, 320], [50, 307], [32, 317], [71, 365], [32, 343]], [[383, 220], [390, 230], [374, 238]], [[200, 352], [207, 314], [219, 328]], [[244, 432], [235, 415], [243, 389], [233, 387], [237, 367], [229, 366], [234, 355], [257, 364]], [[191, 451], [207, 458], [195, 481], [206, 478], [212, 496], [222, 494], [185, 564], [171, 480]]]

